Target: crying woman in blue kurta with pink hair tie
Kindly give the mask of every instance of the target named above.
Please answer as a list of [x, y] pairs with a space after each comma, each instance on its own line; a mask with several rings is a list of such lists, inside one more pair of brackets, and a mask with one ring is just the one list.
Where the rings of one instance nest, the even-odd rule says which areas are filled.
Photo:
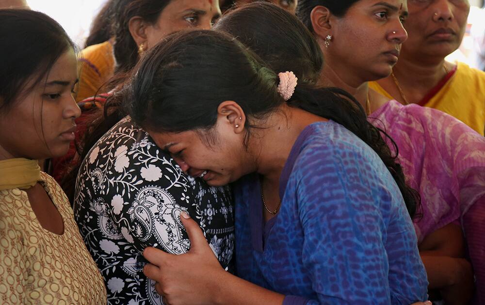
[[417, 200], [402, 169], [352, 96], [297, 82], [232, 37], [191, 31], [154, 47], [125, 84], [132, 120], [183, 171], [209, 185], [238, 181], [236, 257], [247, 280], [216, 265], [181, 213], [189, 253], [144, 251], [144, 272], [169, 304], [425, 300], [409, 217]]

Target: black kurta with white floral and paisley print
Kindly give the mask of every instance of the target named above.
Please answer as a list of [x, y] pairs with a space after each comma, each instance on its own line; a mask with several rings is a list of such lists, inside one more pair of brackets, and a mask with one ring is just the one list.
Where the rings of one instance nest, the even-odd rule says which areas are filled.
[[118, 122], [83, 160], [75, 219], [104, 277], [108, 304], [163, 304], [143, 274], [142, 252], [189, 250], [180, 223], [186, 211], [202, 228], [226, 270], [232, 269], [234, 217], [229, 188], [184, 174], [129, 117]]

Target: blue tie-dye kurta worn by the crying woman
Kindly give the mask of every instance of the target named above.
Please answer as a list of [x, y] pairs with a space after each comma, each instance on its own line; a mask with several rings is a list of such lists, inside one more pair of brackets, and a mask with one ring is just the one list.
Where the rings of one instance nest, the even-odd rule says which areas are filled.
[[281, 208], [263, 222], [257, 174], [235, 186], [238, 275], [284, 304], [411, 304], [427, 278], [399, 188], [343, 126], [305, 128], [280, 177]]

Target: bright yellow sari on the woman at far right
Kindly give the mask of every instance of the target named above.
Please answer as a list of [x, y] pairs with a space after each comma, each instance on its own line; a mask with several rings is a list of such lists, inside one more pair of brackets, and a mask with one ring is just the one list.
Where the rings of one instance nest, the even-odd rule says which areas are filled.
[[[394, 99], [377, 82], [369, 88]], [[482, 136], [485, 131], [485, 72], [458, 62], [456, 71], [431, 97], [417, 103], [450, 114], [464, 122]]]

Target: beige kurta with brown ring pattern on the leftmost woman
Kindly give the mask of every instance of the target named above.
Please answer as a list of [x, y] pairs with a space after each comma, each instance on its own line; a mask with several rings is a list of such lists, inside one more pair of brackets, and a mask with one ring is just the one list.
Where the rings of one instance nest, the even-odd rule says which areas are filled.
[[0, 191], [0, 304], [106, 304], [106, 289], [61, 187], [40, 183], [64, 220], [64, 233], [40, 225], [27, 193]]

